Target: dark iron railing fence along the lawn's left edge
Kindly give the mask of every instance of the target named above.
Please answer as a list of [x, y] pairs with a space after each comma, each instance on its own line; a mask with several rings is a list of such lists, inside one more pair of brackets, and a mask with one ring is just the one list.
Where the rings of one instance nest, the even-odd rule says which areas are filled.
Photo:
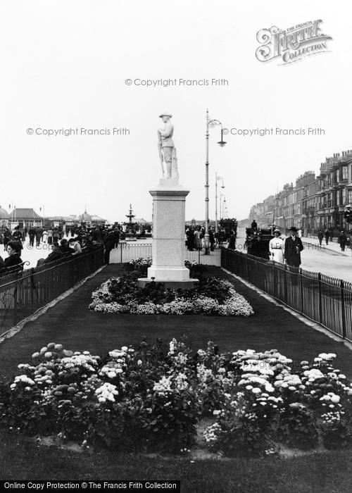
[[0, 277], [0, 335], [103, 265], [103, 248]]

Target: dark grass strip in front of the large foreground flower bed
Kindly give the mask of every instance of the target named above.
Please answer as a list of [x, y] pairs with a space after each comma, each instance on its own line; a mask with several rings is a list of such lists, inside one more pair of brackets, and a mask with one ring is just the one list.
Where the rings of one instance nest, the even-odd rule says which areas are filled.
[[0, 433], [0, 480], [181, 480], [182, 492], [344, 493], [351, 491], [351, 451], [290, 459], [227, 461], [146, 458], [108, 451], [40, 447]]

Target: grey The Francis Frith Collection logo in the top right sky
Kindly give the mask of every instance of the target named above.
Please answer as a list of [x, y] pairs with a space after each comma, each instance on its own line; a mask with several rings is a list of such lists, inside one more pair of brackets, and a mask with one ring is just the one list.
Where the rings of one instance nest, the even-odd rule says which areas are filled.
[[321, 32], [322, 20], [309, 20], [286, 30], [272, 26], [257, 32], [260, 46], [256, 49], [256, 58], [260, 62], [277, 59], [280, 65], [301, 61], [307, 56], [327, 51], [327, 42], [331, 36]]

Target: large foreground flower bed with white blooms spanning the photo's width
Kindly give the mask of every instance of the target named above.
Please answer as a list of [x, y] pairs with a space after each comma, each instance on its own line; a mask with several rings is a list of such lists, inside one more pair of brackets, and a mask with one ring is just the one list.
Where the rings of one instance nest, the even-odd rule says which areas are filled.
[[75, 439], [83, 447], [189, 450], [196, 425], [207, 447], [226, 455], [275, 454], [280, 444], [351, 446], [352, 384], [334, 354], [292, 361], [275, 349], [196, 354], [172, 339], [151, 349], [122, 347], [101, 359], [48, 344], [0, 387], [0, 425], [28, 435]]

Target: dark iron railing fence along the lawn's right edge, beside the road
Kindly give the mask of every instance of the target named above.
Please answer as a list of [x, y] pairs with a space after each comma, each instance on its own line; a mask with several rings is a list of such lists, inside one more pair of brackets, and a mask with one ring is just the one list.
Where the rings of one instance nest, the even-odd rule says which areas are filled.
[[221, 266], [352, 342], [352, 283], [222, 249]]

